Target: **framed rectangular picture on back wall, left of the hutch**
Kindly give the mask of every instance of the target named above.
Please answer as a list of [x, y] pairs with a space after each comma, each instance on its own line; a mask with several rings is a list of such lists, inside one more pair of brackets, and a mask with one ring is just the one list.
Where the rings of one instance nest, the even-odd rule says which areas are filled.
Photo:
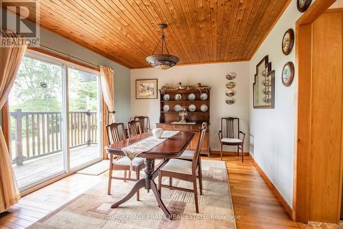
[[136, 80], [136, 98], [157, 98], [157, 79]]

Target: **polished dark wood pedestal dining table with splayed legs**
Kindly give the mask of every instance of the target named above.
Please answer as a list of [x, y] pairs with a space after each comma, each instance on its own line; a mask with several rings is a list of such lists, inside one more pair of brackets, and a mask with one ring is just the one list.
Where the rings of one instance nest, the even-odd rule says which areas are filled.
[[[145, 188], [147, 192], [150, 192], [150, 189], [152, 190], [152, 193], [154, 193], [154, 196], [156, 198], [156, 201], [158, 203], [158, 206], [163, 210], [165, 213], [165, 216], [168, 219], [172, 219], [172, 216], [165, 206], [163, 204], [163, 200], [161, 199], [161, 195], [158, 191], [157, 185], [154, 182], [154, 179], [158, 175], [158, 169], [164, 166], [169, 159], [171, 158], [177, 158], [180, 157], [180, 155], [187, 149], [187, 146], [193, 140], [194, 133], [188, 132], [188, 131], [180, 131], [176, 133], [175, 135], [171, 136], [170, 138], [167, 138], [164, 142], [161, 144], [158, 144], [154, 148], [150, 149], [149, 151], [140, 153], [137, 155], [137, 157], [143, 157], [145, 158], [144, 164], [144, 173], [145, 177], [142, 179], [139, 179], [136, 184], [132, 187], [130, 192], [120, 199], [119, 201], [115, 202], [111, 205], [111, 208], [117, 208], [119, 205], [125, 203], [133, 195], [137, 193], [138, 190], [141, 188]], [[121, 150], [123, 147], [130, 146], [131, 144], [134, 144], [136, 142], [139, 142], [143, 140], [144, 138], [149, 138], [152, 136], [152, 132], [145, 132], [141, 133], [139, 135], [133, 136], [131, 138], [127, 138], [126, 140], [121, 140], [117, 143], [110, 144], [105, 147], [105, 150], [109, 154], [113, 155], [119, 155], [119, 156], [125, 156], [123, 151]], [[154, 168], [154, 160], [163, 160], [162, 163], [160, 163], [157, 168]]]

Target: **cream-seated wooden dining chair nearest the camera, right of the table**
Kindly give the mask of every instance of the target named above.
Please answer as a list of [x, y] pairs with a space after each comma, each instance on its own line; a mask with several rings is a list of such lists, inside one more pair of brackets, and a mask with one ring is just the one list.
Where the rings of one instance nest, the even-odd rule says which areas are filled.
[[[204, 128], [200, 129], [200, 134], [198, 142], [196, 145], [196, 151], [193, 154], [193, 160], [180, 160], [180, 159], [170, 159], [165, 166], [158, 170], [158, 192], [161, 195], [161, 188], [169, 188], [175, 190], [183, 190], [186, 192], [194, 193], [194, 199], [196, 202], [196, 212], [199, 213], [198, 206], [198, 188], [196, 184], [197, 174], [199, 176], [199, 188], [200, 195], [202, 195], [202, 173], [200, 171], [199, 160], [200, 152], [202, 147], [202, 142], [204, 142], [204, 136], [206, 133], [207, 124], [203, 125]], [[169, 177], [169, 185], [162, 184], [162, 177]], [[173, 186], [172, 178], [182, 179], [187, 182], [193, 182], [193, 189], [190, 188], [180, 188]]]

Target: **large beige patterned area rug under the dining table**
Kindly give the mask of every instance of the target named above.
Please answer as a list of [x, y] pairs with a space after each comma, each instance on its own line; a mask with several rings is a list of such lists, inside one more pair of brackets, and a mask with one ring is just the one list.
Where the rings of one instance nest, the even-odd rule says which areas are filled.
[[[124, 197], [134, 182], [113, 180], [112, 195], [107, 195], [107, 181], [103, 180], [29, 228], [235, 228], [225, 162], [202, 160], [202, 174], [198, 214], [193, 193], [167, 188], [162, 188], [162, 199], [174, 220], [165, 218], [152, 191], [145, 189], [141, 189], [140, 201], [134, 196], [112, 209], [110, 205]], [[193, 188], [191, 182], [173, 182], [174, 186]], [[169, 178], [163, 183], [168, 184]]]

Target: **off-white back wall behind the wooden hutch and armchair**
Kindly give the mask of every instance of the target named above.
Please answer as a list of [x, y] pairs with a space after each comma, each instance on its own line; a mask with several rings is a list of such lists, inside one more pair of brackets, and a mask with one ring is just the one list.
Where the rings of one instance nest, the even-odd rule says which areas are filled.
[[[226, 100], [226, 74], [235, 72], [237, 77], [235, 82], [235, 104], [227, 105]], [[183, 85], [202, 85], [211, 86], [210, 96], [210, 146], [212, 150], [220, 150], [218, 131], [220, 129], [220, 118], [236, 116], [240, 119], [241, 131], [249, 133], [249, 63], [217, 63], [206, 65], [185, 65], [176, 66], [165, 71], [146, 68], [131, 70], [131, 116], [149, 116], [152, 127], [156, 127], [160, 116], [160, 99], [136, 99], [136, 80], [143, 78], [157, 78], [158, 89], [165, 84], [176, 85], [181, 82]], [[228, 146], [224, 151], [235, 151]], [[248, 151], [248, 139], [246, 141], [246, 152]]]

